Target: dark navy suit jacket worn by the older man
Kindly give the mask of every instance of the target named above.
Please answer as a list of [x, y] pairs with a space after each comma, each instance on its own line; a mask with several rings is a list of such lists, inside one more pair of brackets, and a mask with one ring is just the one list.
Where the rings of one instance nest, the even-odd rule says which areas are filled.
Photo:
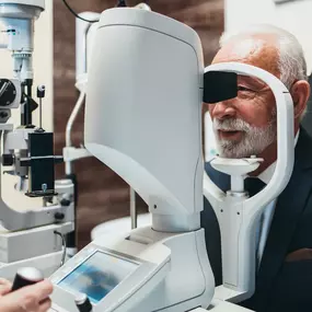
[[[229, 189], [229, 176], [205, 170], [223, 190]], [[216, 215], [205, 199], [201, 227], [216, 284], [222, 284], [220, 229]], [[296, 147], [292, 176], [278, 197], [254, 296], [241, 305], [257, 312], [312, 311], [312, 257], [286, 262], [287, 255], [312, 249], [312, 139], [304, 129]]]

